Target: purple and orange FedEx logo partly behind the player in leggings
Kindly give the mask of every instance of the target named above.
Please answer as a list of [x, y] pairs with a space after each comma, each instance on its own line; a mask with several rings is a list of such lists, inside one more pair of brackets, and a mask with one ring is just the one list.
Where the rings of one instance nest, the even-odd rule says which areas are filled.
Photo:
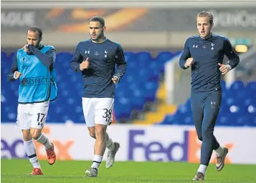
[[[167, 160], [176, 162], [200, 162], [199, 152], [202, 142], [199, 142], [194, 130], [184, 131], [183, 138], [180, 142], [171, 141], [167, 144], [163, 144], [161, 141], [151, 141], [146, 143], [146, 137], [147, 134], [144, 129], [129, 131], [128, 159], [130, 161], [133, 161], [138, 157], [138, 154], [135, 154], [135, 152], [140, 149], [143, 152], [143, 157], [146, 161]], [[136, 140], [138, 138], [141, 140]], [[163, 137], [163, 140], [166, 142], [169, 139], [168, 137]], [[231, 149], [232, 144], [225, 144], [225, 146]], [[229, 158], [227, 157], [226, 159], [226, 163], [230, 163]], [[215, 161], [214, 154], [211, 162]]]

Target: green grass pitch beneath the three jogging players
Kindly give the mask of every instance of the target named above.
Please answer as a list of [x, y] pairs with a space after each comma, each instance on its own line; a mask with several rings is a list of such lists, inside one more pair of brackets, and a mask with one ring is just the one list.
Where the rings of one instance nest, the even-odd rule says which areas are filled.
[[[50, 166], [40, 161], [43, 176], [28, 176], [32, 166], [28, 159], [1, 159], [2, 183], [137, 183], [137, 182], [193, 182], [198, 164], [183, 162], [115, 162], [110, 169], [105, 162], [100, 165], [97, 178], [85, 177], [91, 162], [57, 161]], [[227, 164], [217, 172], [210, 164], [204, 182], [255, 183], [256, 165]]]

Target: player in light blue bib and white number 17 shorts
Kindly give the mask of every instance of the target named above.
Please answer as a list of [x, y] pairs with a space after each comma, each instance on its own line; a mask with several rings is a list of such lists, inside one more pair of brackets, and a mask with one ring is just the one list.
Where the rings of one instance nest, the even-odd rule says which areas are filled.
[[56, 50], [53, 46], [40, 44], [40, 41], [42, 41], [42, 29], [38, 26], [29, 27], [27, 44], [16, 51], [8, 73], [10, 81], [16, 79], [20, 81], [16, 127], [22, 129], [24, 149], [33, 166], [30, 175], [43, 174], [33, 139], [44, 145], [50, 165], [56, 160], [54, 144], [42, 134], [49, 102], [57, 97], [53, 66]]

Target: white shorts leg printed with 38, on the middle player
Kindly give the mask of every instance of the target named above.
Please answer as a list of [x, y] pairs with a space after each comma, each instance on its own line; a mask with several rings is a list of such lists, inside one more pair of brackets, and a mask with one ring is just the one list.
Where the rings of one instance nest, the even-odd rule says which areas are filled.
[[113, 98], [98, 98], [95, 103], [95, 124], [110, 125], [113, 120]]

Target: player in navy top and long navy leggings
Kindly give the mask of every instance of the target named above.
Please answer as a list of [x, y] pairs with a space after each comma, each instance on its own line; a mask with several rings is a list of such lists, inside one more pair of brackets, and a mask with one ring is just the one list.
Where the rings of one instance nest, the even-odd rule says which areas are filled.
[[[182, 69], [191, 68], [191, 108], [196, 133], [202, 141], [201, 163], [193, 180], [204, 180], [212, 151], [217, 154], [217, 171], [224, 167], [228, 149], [214, 137], [214, 126], [222, 100], [221, 74], [227, 74], [240, 62], [229, 39], [212, 34], [213, 16], [200, 11], [196, 17], [198, 36], [186, 39], [179, 60]], [[223, 64], [224, 55], [229, 61]]]

